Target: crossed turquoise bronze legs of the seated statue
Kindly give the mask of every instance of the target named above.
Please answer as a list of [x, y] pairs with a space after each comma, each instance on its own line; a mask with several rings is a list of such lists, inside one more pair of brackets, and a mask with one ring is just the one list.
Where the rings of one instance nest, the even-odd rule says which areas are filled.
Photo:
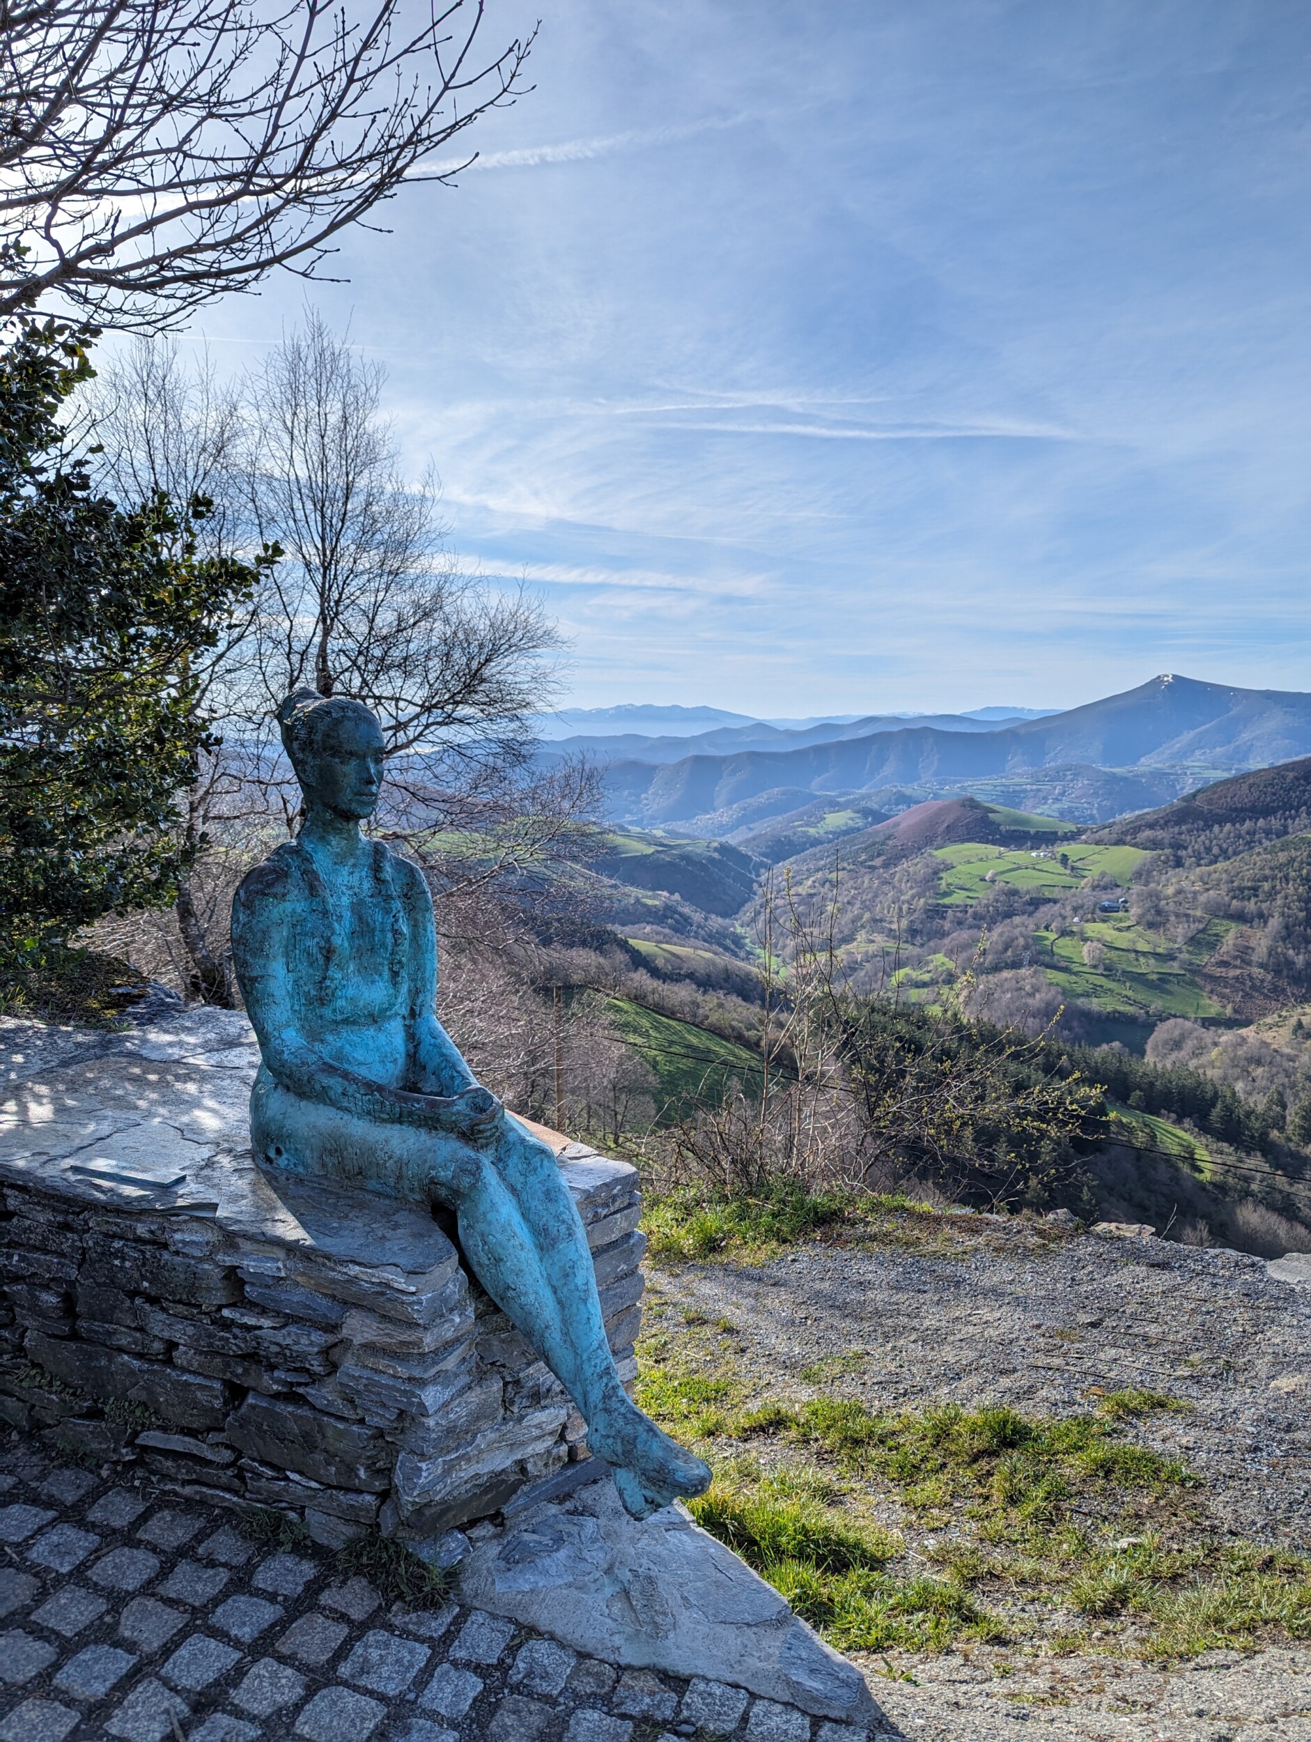
[[454, 1209], [482, 1287], [578, 1404], [592, 1451], [615, 1467], [630, 1512], [705, 1489], [710, 1472], [623, 1390], [578, 1211], [550, 1150], [507, 1120], [494, 1151], [409, 1125], [376, 1125], [256, 1084], [258, 1151], [299, 1174]]

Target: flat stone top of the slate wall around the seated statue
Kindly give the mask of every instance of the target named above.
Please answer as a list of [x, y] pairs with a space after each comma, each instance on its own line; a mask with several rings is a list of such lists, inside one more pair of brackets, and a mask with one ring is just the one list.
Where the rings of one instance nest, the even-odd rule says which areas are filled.
[[[454, 1265], [449, 1239], [418, 1205], [256, 1164], [249, 1097], [259, 1050], [239, 1012], [172, 1007], [118, 1033], [7, 1017], [0, 1056], [0, 1183], [131, 1216], [143, 1237], [174, 1249], [232, 1244], [244, 1261], [294, 1252], [413, 1287]], [[555, 1150], [585, 1223], [634, 1197], [627, 1162], [529, 1125]]]

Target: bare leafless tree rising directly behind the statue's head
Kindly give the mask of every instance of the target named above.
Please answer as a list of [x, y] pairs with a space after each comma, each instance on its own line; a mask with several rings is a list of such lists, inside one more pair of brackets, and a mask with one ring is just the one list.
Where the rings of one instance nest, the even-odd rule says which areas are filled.
[[432, 472], [404, 481], [385, 378], [310, 314], [249, 385], [251, 516], [286, 552], [259, 634], [265, 704], [301, 683], [367, 702], [392, 826], [451, 826], [456, 794], [465, 822], [489, 824], [528, 768], [526, 716], [554, 690], [559, 639], [526, 591], [465, 575], [444, 549]]

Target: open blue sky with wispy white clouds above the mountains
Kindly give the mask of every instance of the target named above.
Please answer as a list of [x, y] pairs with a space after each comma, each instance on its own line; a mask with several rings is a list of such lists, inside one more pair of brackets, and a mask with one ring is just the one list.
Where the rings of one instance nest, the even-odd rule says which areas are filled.
[[[533, 94], [310, 287], [568, 700], [1311, 688], [1311, 9], [489, 0]], [[197, 322], [252, 357], [306, 287]]]

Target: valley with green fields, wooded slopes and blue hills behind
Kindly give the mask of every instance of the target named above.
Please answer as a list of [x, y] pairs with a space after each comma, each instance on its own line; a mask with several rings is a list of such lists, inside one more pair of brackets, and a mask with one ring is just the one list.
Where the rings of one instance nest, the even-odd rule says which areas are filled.
[[[987, 744], [998, 760], [1025, 733], [1066, 756], [1081, 733], [1085, 753], [1095, 737], [1106, 754], [1154, 756], [1170, 732], [1175, 747], [1236, 760], [1294, 732], [1306, 700], [1156, 679], [1093, 704], [1100, 721], [1057, 714], [959, 733], [961, 754]], [[1050, 1056], [1045, 1070], [1078, 1061], [1104, 1097], [1076, 1141], [1078, 1153], [1100, 1144], [1085, 1165], [1099, 1212], [1173, 1218], [1175, 1239], [1267, 1256], [1311, 1249], [1311, 756], [1201, 782], [1196, 765], [1116, 775], [1086, 763], [1139, 780], [1137, 798], [1158, 798], [1153, 782], [1179, 793], [1111, 819], [1001, 801], [1043, 770], [968, 791], [829, 794], [796, 779], [799, 756], [858, 753], [883, 768], [886, 746], [871, 746], [935, 730], [775, 753], [787, 780], [775, 770], [775, 784], [740, 796], [742, 758], [642, 765], [644, 793], [663, 791], [669, 808], [676, 793], [691, 794], [686, 807], [731, 800], [686, 820], [639, 826], [615, 803], [585, 869], [587, 904], [597, 935], [623, 951], [606, 1010], [649, 1071], [655, 1127], [677, 1132], [735, 1096], [759, 1097], [763, 984], [790, 1009], [803, 956], [813, 972], [818, 948], [841, 996], [872, 1000], [893, 1024], [898, 1010], [923, 1012], [930, 1028], [1019, 1036]], [[775, 1085], [801, 1070], [789, 1047]]]

